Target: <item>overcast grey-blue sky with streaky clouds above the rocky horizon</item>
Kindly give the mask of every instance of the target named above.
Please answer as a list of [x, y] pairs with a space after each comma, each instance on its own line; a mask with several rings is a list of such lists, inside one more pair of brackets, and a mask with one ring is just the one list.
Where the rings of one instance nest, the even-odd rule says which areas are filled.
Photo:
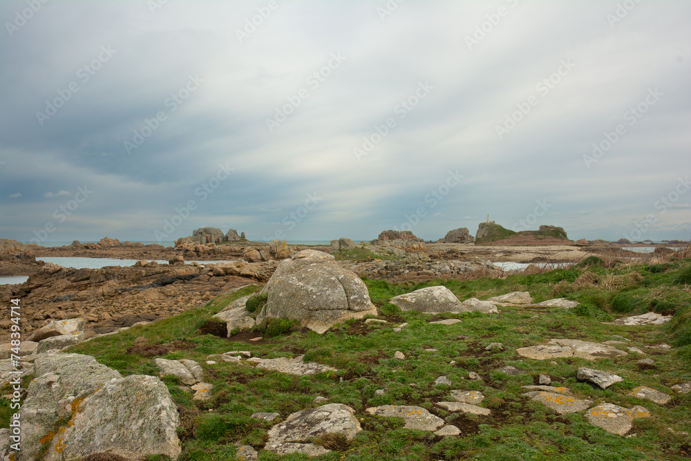
[[0, 12], [0, 237], [691, 237], [688, 1]]

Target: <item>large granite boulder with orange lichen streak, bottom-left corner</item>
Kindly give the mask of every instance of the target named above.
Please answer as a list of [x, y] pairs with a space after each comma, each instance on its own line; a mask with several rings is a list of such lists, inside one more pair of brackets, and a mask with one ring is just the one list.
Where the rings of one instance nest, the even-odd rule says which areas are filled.
[[[88, 355], [37, 357], [35, 379], [21, 407], [21, 451], [15, 461], [75, 460], [110, 451], [125, 459], [180, 455], [176, 404], [158, 378], [122, 377]], [[8, 447], [0, 447], [9, 455]], [[6, 458], [2, 458], [6, 459]]]

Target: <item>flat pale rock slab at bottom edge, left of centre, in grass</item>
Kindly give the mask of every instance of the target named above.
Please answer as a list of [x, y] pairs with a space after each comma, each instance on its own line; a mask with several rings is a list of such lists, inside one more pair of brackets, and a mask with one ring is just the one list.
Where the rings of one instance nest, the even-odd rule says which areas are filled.
[[308, 456], [328, 453], [323, 446], [308, 441], [325, 434], [339, 434], [352, 440], [362, 431], [354, 413], [350, 406], [343, 404], [326, 404], [292, 413], [269, 430], [264, 449], [278, 454], [304, 453]]

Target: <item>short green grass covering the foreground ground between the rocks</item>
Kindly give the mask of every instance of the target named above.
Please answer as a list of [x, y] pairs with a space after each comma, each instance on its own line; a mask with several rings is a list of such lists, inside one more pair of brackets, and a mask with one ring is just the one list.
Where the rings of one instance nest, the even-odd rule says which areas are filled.
[[[389, 323], [365, 324], [351, 320], [334, 326], [323, 335], [296, 329], [289, 321], [271, 320], [258, 327], [265, 335], [261, 343], [229, 341], [212, 335], [200, 335], [198, 328], [211, 315], [230, 302], [259, 290], [253, 286], [226, 294], [206, 305], [193, 308], [169, 319], [131, 328], [118, 335], [100, 337], [70, 348], [70, 352], [93, 355], [103, 364], [123, 375], [145, 373], [158, 375], [154, 357], [140, 357], [126, 352], [135, 338], [148, 337], [151, 343], [167, 344], [174, 340], [190, 341], [193, 348], [172, 352], [167, 358], [189, 358], [205, 368], [206, 380], [214, 384], [213, 399], [193, 402], [189, 393], [175, 379], [164, 379], [173, 399], [181, 408], [180, 434], [183, 440], [181, 461], [234, 460], [236, 445], [263, 446], [272, 423], [253, 420], [255, 412], [277, 412], [281, 418], [312, 408], [314, 397], [330, 403], [342, 403], [356, 411], [363, 431], [346, 442], [338, 438], [317, 440], [334, 451], [318, 460], [682, 460], [690, 446], [691, 394], [680, 395], [671, 386], [691, 379], [691, 290], [683, 283], [691, 268], [691, 259], [657, 266], [618, 265], [607, 268], [591, 260], [585, 265], [558, 269], [543, 274], [515, 274], [506, 279], [473, 281], [430, 281], [426, 283], [386, 283], [365, 279], [379, 317]], [[584, 276], [585, 274], [585, 276]], [[590, 275], [589, 275], [590, 274]], [[634, 275], [632, 275], [634, 274]], [[577, 281], [595, 275], [600, 285], [579, 285]], [[585, 278], [584, 278], [585, 277]], [[631, 280], [631, 283], [619, 283]], [[681, 282], [680, 282], [681, 281]], [[444, 285], [460, 299], [486, 299], [511, 291], [529, 291], [537, 302], [554, 297], [580, 301], [578, 308], [500, 308], [498, 315], [477, 313], [431, 316], [404, 312], [388, 299], [431, 285]], [[674, 317], [661, 326], [616, 326], [602, 323], [623, 314], [661, 310]], [[439, 326], [430, 320], [457, 318], [453, 326]], [[393, 327], [408, 322], [400, 332]], [[270, 330], [270, 331], [269, 331]], [[516, 354], [515, 349], [544, 344], [551, 338], [607, 341], [621, 335], [630, 343], [617, 345], [647, 346], [666, 342], [676, 346], [670, 352], [650, 353], [657, 368], [636, 365], [641, 355], [630, 353], [617, 359], [556, 359], [536, 361]], [[504, 350], [484, 348], [500, 342]], [[434, 349], [434, 350], [430, 350]], [[335, 373], [297, 377], [269, 372], [253, 366], [218, 362], [206, 364], [207, 356], [228, 350], [250, 350], [254, 357], [295, 357], [317, 361], [337, 368]], [[404, 361], [393, 358], [400, 350]], [[495, 370], [511, 365], [529, 370], [528, 375], [509, 376]], [[625, 381], [600, 389], [578, 382], [578, 366], [611, 370]], [[484, 381], [468, 379], [471, 371]], [[630, 408], [641, 404], [652, 417], [636, 420], [636, 437], [622, 438], [591, 426], [583, 413], [557, 415], [545, 406], [522, 396], [521, 386], [533, 384], [538, 374], [553, 379], [553, 384], [571, 388], [577, 397], [599, 404], [611, 402]], [[433, 386], [440, 375], [453, 386]], [[627, 396], [633, 386], [644, 385], [668, 393], [674, 400], [666, 406]], [[375, 396], [379, 389], [384, 395]], [[451, 399], [451, 389], [484, 393], [481, 404], [491, 408], [489, 417], [444, 411], [435, 402]], [[0, 411], [4, 402], [0, 401]], [[436, 438], [423, 431], [402, 429], [398, 418], [384, 418], [366, 413], [366, 408], [384, 404], [408, 404], [427, 408], [448, 424], [457, 424], [462, 435]], [[3, 415], [3, 413], [0, 413]], [[671, 432], [668, 428], [674, 431]], [[151, 461], [157, 458], [150, 458]], [[260, 460], [306, 460], [303, 455], [279, 457], [261, 452]]]

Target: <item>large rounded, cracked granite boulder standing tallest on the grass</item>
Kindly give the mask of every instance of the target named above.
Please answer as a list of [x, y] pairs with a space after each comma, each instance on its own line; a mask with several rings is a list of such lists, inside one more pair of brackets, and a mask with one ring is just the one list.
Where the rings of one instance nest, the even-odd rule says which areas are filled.
[[376, 315], [367, 286], [328, 253], [302, 250], [281, 261], [260, 294], [267, 302], [257, 315], [297, 320], [319, 334], [336, 323]]

